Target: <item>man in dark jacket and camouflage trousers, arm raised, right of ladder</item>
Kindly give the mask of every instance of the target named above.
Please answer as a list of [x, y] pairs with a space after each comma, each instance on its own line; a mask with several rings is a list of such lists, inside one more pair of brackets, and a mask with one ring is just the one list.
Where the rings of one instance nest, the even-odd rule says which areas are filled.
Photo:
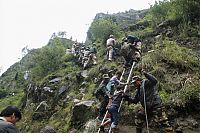
[[[161, 98], [156, 90], [157, 79], [143, 71], [146, 79], [141, 79], [139, 76], [132, 77], [132, 83], [137, 88], [135, 96], [129, 99], [130, 102], [137, 104], [141, 103], [143, 109], [139, 110], [135, 116], [136, 133], [142, 133], [142, 128], [145, 123], [145, 105], [149, 121], [154, 121], [161, 127], [165, 127], [165, 133], [173, 132], [169, 125], [165, 112], [163, 111]], [[145, 94], [145, 101], [144, 101]]]

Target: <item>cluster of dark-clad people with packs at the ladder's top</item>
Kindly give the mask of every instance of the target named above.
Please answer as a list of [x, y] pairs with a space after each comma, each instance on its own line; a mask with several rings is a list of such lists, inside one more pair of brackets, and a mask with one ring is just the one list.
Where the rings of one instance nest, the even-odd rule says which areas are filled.
[[135, 36], [127, 36], [123, 38], [121, 47], [121, 55], [124, 57], [125, 67], [130, 67], [133, 61], [138, 62], [141, 58], [141, 40]]

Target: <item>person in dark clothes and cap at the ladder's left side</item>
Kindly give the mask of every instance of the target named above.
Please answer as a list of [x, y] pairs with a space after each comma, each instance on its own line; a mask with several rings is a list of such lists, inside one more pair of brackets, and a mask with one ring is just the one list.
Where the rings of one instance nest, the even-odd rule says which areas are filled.
[[98, 115], [98, 119], [102, 120], [105, 113], [106, 113], [106, 107], [108, 105], [109, 102], [109, 97], [106, 94], [106, 85], [109, 82], [110, 77], [108, 76], [108, 74], [103, 74], [103, 80], [101, 81], [98, 89], [95, 91], [95, 95], [96, 98], [100, 101], [100, 108], [99, 108], [99, 115]]

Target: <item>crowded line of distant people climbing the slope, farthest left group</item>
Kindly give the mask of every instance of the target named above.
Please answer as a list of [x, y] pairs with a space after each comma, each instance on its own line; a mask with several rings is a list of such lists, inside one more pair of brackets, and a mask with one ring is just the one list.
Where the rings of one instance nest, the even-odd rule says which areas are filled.
[[83, 44], [74, 42], [71, 49], [72, 54], [78, 58], [78, 62], [83, 66], [83, 69], [89, 67], [89, 65], [96, 65], [96, 43], [92, 43], [91, 47], [86, 47]]

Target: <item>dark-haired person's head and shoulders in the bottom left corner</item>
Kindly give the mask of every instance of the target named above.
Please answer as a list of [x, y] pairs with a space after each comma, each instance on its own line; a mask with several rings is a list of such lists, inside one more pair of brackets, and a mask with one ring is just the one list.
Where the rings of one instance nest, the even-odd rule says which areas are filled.
[[20, 133], [15, 127], [21, 119], [21, 112], [15, 106], [8, 106], [0, 113], [0, 133]]

